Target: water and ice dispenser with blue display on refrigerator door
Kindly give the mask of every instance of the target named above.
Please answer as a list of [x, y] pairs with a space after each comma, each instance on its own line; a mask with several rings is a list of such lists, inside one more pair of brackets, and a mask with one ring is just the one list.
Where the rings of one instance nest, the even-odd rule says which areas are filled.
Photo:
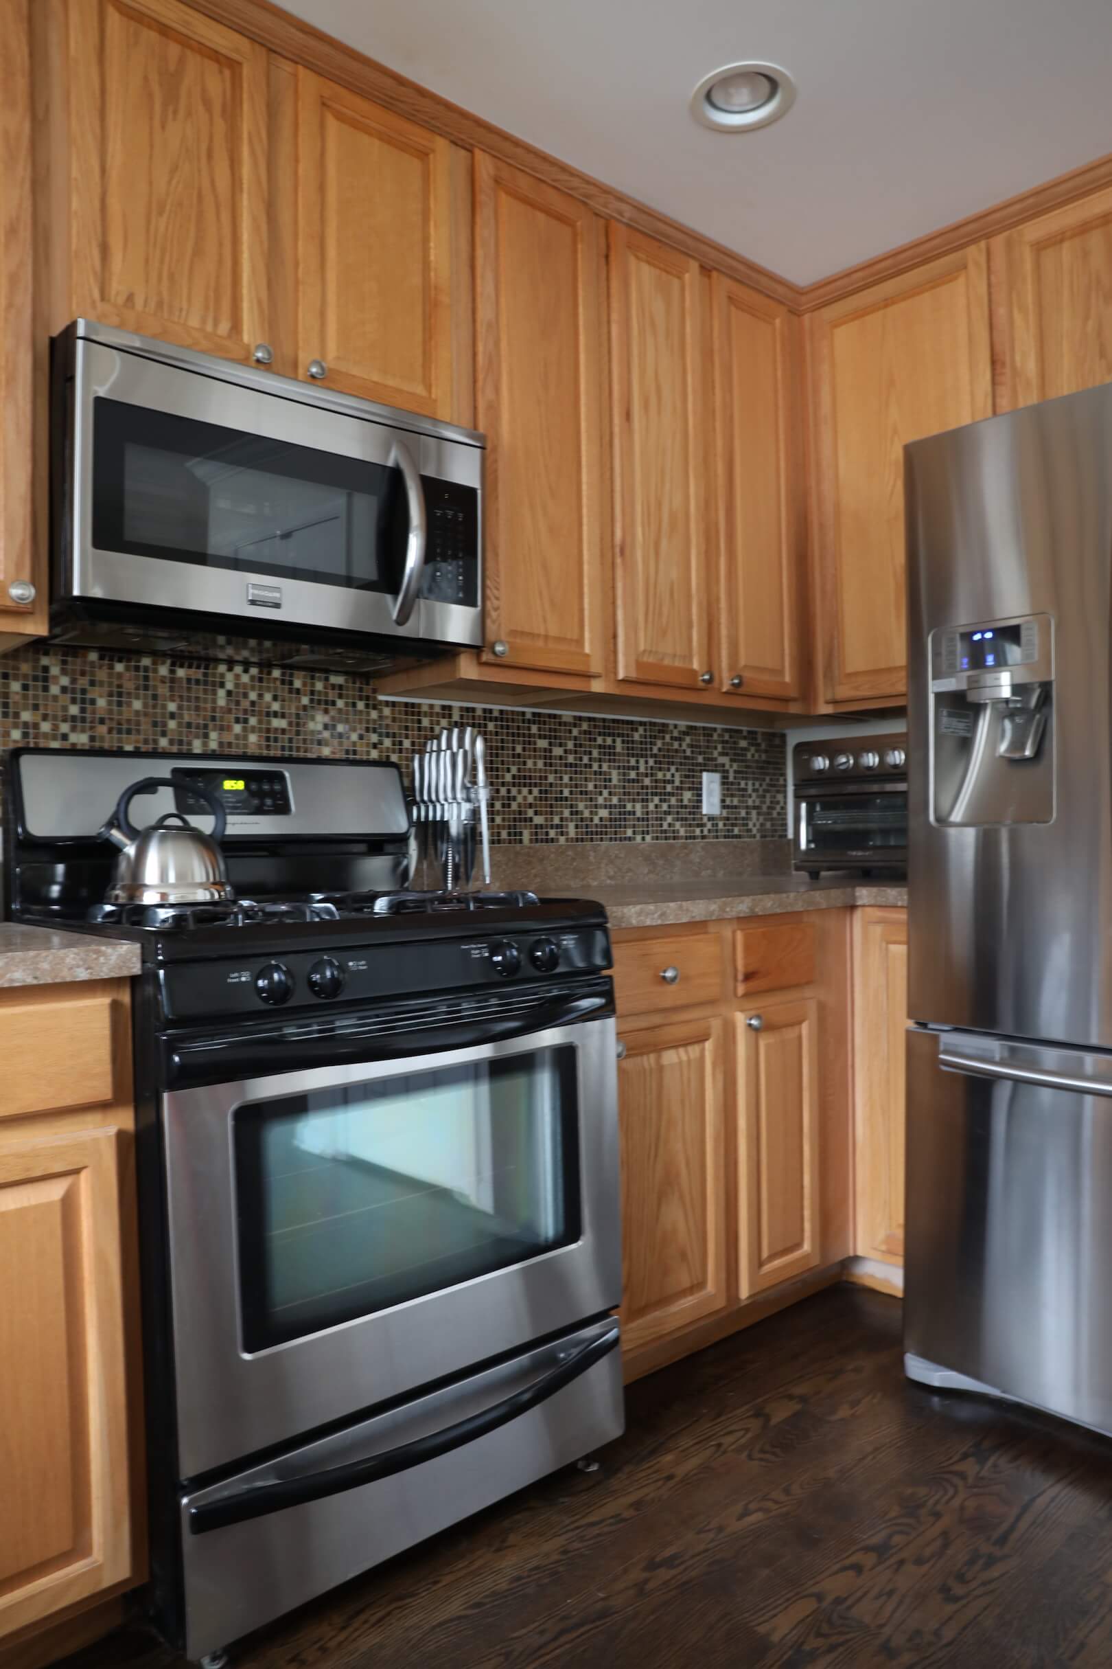
[[1054, 621], [930, 633], [930, 814], [984, 828], [1054, 819]]

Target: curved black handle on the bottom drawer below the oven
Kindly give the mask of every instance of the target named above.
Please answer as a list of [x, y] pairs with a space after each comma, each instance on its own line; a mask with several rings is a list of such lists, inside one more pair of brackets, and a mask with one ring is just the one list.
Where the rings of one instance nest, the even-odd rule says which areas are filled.
[[532, 1385], [515, 1390], [512, 1395], [495, 1402], [490, 1409], [468, 1414], [455, 1425], [445, 1425], [440, 1432], [417, 1437], [410, 1444], [400, 1444], [383, 1455], [368, 1455], [365, 1460], [348, 1460], [347, 1465], [327, 1467], [323, 1472], [310, 1472], [305, 1477], [283, 1477], [268, 1484], [253, 1484], [230, 1495], [202, 1502], [188, 1509], [188, 1527], [192, 1535], [203, 1535], [207, 1530], [223, 1530], [230, 1524], [243, 1524], [247, 1519], [262, 1519], [268, 1512], [282, 1512], [285, 1507], [303, 1507], [310, 1500], [325, 1500], [328, 1495], [340, 1495], [348, 1489], [362, 1489], [363, 1484], [378, 1484], [385, 1477], [397, 1477], [410, 1467], [423, 1465], [427, 1460], [438, 1460], [440, 1455], [473, 1444], [488, 1432], [497, 1432], [500, 1425], [508, 1425], [530, 1409], [540, 1407], [557, 1390], [564, 1390], [572, 1380], [580, 1379], [605, 1355], [617, 1350], [620, 1329], [615, 1322], [605, 1334], [592, 1339], [575, 1350], [565, 1362], [559, 1362], [552, 1372], [533, 1380]]

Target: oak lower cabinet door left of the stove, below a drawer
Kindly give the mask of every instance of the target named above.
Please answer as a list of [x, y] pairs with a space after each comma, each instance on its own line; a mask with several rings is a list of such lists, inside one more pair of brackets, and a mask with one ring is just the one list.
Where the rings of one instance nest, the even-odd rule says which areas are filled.
[[0, 1147], [0, 1636], [132, 1576], [115, 1130]]

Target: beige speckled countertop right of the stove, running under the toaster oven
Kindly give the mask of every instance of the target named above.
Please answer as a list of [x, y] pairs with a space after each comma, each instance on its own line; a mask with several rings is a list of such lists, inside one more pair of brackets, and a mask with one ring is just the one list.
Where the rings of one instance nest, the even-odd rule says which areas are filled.
[[592, 886], [580, 896], [605, 905], [612, 928], [655, 928], [677, 921], [774, 916], [789, 910], [839, 910], [849, 905], [907, 905], [907, 886], [890, 881], [845, 881], [805, 875], [739, 875], [720, 880], [644, 881]]

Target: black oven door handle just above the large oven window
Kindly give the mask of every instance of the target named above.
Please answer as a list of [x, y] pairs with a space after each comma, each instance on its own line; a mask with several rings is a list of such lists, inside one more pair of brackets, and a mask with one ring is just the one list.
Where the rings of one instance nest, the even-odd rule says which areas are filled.
[[180, 1090], [193, 1083], [228, 1082], [232, 1078], [265, 1077], [272, 1071], [307, 1071], [313, 1066], [335, 1066], [357, 1061], [418, 1060], [425, 1055], [443, 1055], [448, 1050], [477, 1048], [482, 1043], [505, 1043], [528, 1036], [532, 1031], [550, 1031], [553, 1026], [575, 1025], [580, 1020], [605, 1020], [614, 1015], [609, 991], [590, 991], [562, 998], [537, 1008], [518, 1010], [500, 1020], [483, 1015], [478, 1020], [407, 1025], [383, 1021], [367, 1031], [327, 1031], [322, 1036], [297, 1035], [252, 1036], [222, 1033], [212, 1038], [182, 1041], [167, 1040], [165, 1087]]

